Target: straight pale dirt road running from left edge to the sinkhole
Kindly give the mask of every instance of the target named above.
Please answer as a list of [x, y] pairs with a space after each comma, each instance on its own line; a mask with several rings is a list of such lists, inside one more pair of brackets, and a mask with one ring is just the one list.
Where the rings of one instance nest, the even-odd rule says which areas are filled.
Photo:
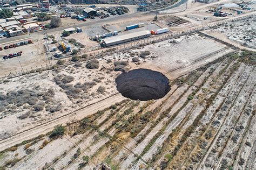
[[71, 112], [62, 117], [53, 119], [52, 121], [49, 121], [48, 123], [44, 123], [35, 128], [32, 128], [28, 131], [24, 131], [22, 133], [16, 134], [15, 136], [12, 136], [11, 138], [4, 139], [4, 140], [0, 141], [0, 151], [3, 151], [6, 148], [14, 146], [16, 144], [19, 144], [24, 140], [35, 138], [39, 134], [45, 134], [45, 133], [51, 131], [54, 128], [54, 126], [56, 126], [58, 124], [66, 124], [67, 122], [70, 122], [71, 120], [82, 119], [88, 115], [94, 114], [98, 110], [103, 110], [107, 107], [110, 107], [114, 103], [120, 102], [124, 99], [125, 99], [125, 97], [123, 97], [121, 94], [116, 94], [109, 98], [106, 98], [103, 101], [89, 105], [88, 107], [85, 107], [84, 109], [81, 109], [77, 112]]

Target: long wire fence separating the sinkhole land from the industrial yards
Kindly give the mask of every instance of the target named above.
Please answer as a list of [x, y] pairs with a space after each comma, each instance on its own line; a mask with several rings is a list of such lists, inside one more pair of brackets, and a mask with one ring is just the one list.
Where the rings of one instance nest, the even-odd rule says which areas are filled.
[[[100, 58], [100, 55], [109, 55], [109, 54], [117, 53], [117, 52], [120, 52], [120, 51], [124, 51], [126, 49], [138, 48], [138, 47], [141, 47], [141, 46], [154, 44], [156, 42], [177, 38], [177, 37], [180, 37], [180, 36], [185, 36], [186, 34], [196, 33], [196, 32], [199, 32], [199, 31], [203, 31], [204, 29], [209, 29], [209, 28], [214, 27], [214, 26], [218, 26], [218, 25], [221, 25], [221, 24], [229, 23], [229, 22], [234, 22], [234, 21], [237, 21], [237, 20], [240, 20], [240, 19], [250, 18], [250, 17], [253, 17], [253, 16], [255, 16], [255, 13], [252, 13], [251, 15], [225, 19], [225, 20], [222, 20], [222, 21], [219, 21], [219, 22], [214, 22], [214, 23], [209, 23], [209, 24], [206, 24], [206, 25], [192, 27], [191, 29], [187, 29], [185, 31], [160, 34], [160, 35], [156, 35], [154, 37], [149, 37], [149, 38], [141, 39], [141, 40], [138, 40], [138, 41], [127, 42], [127, 43], [122, 44], [122, 45], [112, 46], [111, 48], [98, 47], [98, 48], [95, 48], [93, 51], [87, 52], [86, 54], [87, 54], [88, 58], [82, 59], [80, 61], [86, 61], [86, 60], [90, 60], [92, 58]], [[225, 40], [221, 40], [219, 38], [209, 36], [209, 35], [201, 33], [201, 32], [200, 32], [200, 34], [203, 34], [204, 36], [207, 36], [209, 38], [213, 38], [214, 40], [217, 40], [217, 41], [219, 41], [219, 42], [221, 42], [221, 43], [223, 43], [227, 46], [230, 46], [232, 48], [238, 48], [237, 46], [234, 46], [234, 44], [231, 44], [230, 42], [227, 42]], [[65, 65], [71, 65], [71, 64], [74, 63], [74, 62], [71, 61], [70, 56], [68, 56], [68, 58], [62, 58], [62, 60], [65, 61]], [[31, 67], [31, 69], [25, 68], [25, 69], [21, 69], [21, 70], [15, 70], [15, 73], [12, 72], [8, 75], [5, 74], [4, 77], [7, 77], [8, 79], [11, 79], [11, 78], [21, 76], [21, 75], [25, 75], [25, 74], [42, 72], [42, 71], [49, 70], [49, 69], [55, 69], [57, 67], [56, 65], [57, 65], [57, 60], [53, 60], [53, 61], [49, 61], [49, 63], [46, 63], [46, 64], [41, 65], [41, 66]], [[58, 66], [58, 67], [62, 67], [62, 66]]]

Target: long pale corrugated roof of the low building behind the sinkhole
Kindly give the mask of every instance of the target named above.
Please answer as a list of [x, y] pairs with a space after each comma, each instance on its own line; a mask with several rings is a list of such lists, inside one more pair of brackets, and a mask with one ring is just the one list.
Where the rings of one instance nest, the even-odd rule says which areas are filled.
[[122, 41], [122, 40], [126, 40], [126, 39], [131, 39], [131, 38], [136, 38], [136, 37], [139, 37], [139, 36], [145, 36], [145, 35], [148, 35], [148, 34], [151, 34], [150, 31], [143, 30], [143, 31], [128, 33], [128, 34], [124, 34], [124, 35], [120, 35], [120, 36], [105, 38], [103, 41], [105, 42], [105, 44], [110, 44], [110, 43], [113, 43], [113, 42]]

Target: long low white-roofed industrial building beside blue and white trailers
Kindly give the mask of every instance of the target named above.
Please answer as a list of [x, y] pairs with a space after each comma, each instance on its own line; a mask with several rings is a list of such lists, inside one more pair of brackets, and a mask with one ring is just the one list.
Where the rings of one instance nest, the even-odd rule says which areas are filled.
[[143, 30], [143, 31], [124, 34], [121, 36], [106, 38], [103, 40], [102, 45], [105, 47], [109, 47], [109, 46], [118, 45], [118, 44], [122, 44], [122, 43], [129, 42], [129, 41], [147, 38], [150, 36], [151, 36], [150, 31]]

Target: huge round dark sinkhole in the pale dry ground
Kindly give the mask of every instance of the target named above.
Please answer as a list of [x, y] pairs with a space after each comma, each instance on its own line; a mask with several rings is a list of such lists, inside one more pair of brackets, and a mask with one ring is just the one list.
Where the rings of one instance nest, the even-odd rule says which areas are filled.
[[166, 76], [150, 69], [122, 73], [116, 79], [116, 86], [124, 97], [140, 101], [162, 98], [171, 89]]

